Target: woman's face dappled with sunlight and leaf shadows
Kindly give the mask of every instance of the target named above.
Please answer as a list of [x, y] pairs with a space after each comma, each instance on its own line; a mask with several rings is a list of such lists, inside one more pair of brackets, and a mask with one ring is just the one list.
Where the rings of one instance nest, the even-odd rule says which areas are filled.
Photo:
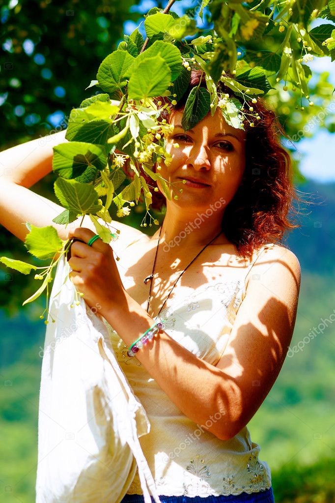
[[[166, 138], [166, 150], [172, 155], [172, 162], [168, 166], [164, 161], [159, 164], [160, 175], [175, 184], [174, 194], [178, 195], [178, 200], [172, 197], [167, 204], [186, 206], [189, 211], [215, 203], [218, 209], [219, 202], [225, 207], [233, 199], [244, 173], [246, 133], [229, 126], [219, 108], [186, 132], [181, 127], [182, 115], [182, 110], [173, 111], [169, 119], [174, 131]], [[199, 188], [183, 184], [182, 180], [188, 177], [207, 185]], [[158, 187], [161, 190], [159, 182]], [[182, 194], [178, 192], [180, 188]]]

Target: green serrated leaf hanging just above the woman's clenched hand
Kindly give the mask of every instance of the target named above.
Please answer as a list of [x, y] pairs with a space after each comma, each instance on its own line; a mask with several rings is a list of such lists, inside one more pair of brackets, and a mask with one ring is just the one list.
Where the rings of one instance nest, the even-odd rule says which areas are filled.
[[94, 215], [101, 209], [97, 193], [91, 185], [58, 178], [54, 184], [54, 190], [61, 205], [72, 212], [80, 215], [87, 213]]

